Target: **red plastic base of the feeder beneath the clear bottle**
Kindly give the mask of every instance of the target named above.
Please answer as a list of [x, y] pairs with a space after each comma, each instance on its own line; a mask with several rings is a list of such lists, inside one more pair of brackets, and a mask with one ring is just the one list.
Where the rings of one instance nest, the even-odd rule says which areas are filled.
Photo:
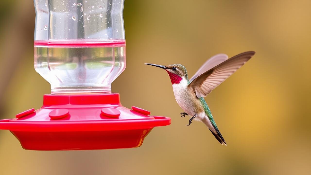
[[155, 126], [169, 117], [120, 104], [119, 94], [44, 95], [43, 106], [0, 120], [30, 150], [87, 150], [134, 148]]

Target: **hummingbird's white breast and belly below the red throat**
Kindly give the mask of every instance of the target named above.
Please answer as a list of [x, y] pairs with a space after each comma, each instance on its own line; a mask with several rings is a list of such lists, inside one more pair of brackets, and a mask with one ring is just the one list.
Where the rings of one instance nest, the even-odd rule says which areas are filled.
[[187, 92], [188, 82], [185, 78], [181, 80], [179, 84], [173, 84], [173, 91], [175, 95], [176, 102], [179, 106], [190, 116], [194, 116], [194, 106], [191, 102], [192, 99], [189, 97]]

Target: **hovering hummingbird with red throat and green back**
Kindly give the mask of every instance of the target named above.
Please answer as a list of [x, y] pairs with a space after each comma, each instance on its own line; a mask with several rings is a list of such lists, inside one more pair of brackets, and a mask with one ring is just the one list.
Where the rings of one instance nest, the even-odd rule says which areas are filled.
[[192, 116], [188, 126], [193, 119], [202, 121], [220, 144], [227, 145], [203, 97], [211, 93], [213, 89], [243, 66], [254, 54], [254, 51], [243, 52], [230, 59], [226, 54], [214, 55], [190, 79], [188, 79], [186, 68], [181, 64], [169, 66], [145, 64], [162, 68], [169, 74], [176, 102], [185, 111], [180, 113], [181, 117]]

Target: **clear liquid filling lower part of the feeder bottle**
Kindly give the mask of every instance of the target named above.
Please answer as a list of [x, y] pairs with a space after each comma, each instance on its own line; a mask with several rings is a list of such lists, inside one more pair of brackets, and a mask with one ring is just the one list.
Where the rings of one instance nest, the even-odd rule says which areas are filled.
[[126, 64], [125, 40], [36, 40], [34, 54], [51, 93], [110, 93]]

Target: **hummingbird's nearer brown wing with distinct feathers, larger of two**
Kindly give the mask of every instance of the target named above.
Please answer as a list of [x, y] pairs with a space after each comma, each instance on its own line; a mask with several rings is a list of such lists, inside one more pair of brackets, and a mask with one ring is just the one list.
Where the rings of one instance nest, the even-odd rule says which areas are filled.
[[202, 73], [188, 86], [193, 87], [198, 98], [206, 97], [215, 87], [224, 82], [230, 75], [252, 58], [254, 54], [254, 51], [248, 51], [235, 55]]

